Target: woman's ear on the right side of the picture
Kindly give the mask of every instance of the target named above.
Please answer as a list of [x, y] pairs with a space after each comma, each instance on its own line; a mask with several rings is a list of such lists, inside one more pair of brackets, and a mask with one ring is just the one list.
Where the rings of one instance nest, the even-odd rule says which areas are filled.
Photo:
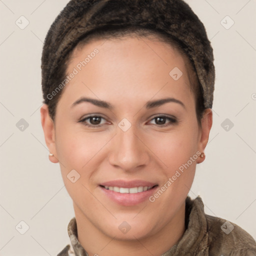
[[[201, 129], [198, 140], [198, 150], [202, 153], [207, 145], [209, 139], [210, 128], [212, 125], [212, 110], [211, 108], [206, 108], [203, 112], [201, 118]], [[197, 163], [200, 163], [204, 160], [204, 157], [198, 157]]]

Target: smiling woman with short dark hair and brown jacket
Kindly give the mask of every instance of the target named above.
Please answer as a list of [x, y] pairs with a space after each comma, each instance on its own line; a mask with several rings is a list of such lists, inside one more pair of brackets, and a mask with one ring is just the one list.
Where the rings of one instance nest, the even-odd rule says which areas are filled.
[[42, 52], [41, 123], [75, 217], [66, 255], [255, 255], [187, 196], [212, 125], [215, 71], [181, 0], [71, 0]]

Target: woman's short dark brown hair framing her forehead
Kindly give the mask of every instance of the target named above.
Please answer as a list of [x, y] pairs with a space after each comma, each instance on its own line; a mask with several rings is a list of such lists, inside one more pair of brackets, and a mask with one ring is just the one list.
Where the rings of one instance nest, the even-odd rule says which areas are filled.
[[[73, 49], [91, 38], [156, 35], [190, 60], [198, 123], [212, 106], [215, 69], [205, 28], [183, 0], [71, 0], [52, 23], [42, 51], [42, 92], [54, 120]], [[49, 95], [51, 95], [49, 97]]]

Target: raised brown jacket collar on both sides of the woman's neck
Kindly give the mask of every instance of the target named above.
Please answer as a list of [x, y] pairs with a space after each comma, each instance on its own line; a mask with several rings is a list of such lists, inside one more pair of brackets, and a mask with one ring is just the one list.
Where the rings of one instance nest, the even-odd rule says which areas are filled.
[[[186, 197], [185, 204], [185, 227], [186, 230], [168, 251], [164, 252], [161, 256], [178, 256], [196, 254], [196, 251], [203, 251], [201, 256], [208, 255], [207, 253], [207, 224], [204, 213], [204, 205], [200, 196], [195, 199]], [[67, 232], [70, 238], [71, 246], [68, 250], [70, 256], [88, 256], [85, 249], [82, 247], [77, 239], [77, 226], [75, 217], [73, 217], [68, 226]]]

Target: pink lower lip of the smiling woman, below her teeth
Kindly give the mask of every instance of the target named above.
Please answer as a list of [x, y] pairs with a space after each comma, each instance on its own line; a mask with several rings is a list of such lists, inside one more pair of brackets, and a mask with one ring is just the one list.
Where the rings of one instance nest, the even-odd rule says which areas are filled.
[[131, 206], [141, 203], [148, 199], [150, 195], [152, 195], [158, 186], [152, 187], [149, 190], [137, 193], [119, 193], [109, 189], [106, 189], [102, 186], [99, 186], [100, 189], [113, 201], [120, 205]]

